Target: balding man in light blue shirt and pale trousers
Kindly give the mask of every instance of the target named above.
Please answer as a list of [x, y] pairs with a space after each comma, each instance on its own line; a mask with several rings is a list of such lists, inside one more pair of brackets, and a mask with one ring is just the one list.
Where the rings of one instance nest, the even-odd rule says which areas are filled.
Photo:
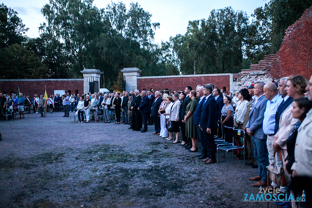
[[[269, 152], [269, 162], [271, 165], [280, 165], [279, 157], [276, 157], [276, 162], [274, 158], [274, 150], [272, 148], [274, 143], [274, 129], [275, 129], [275, 114], [278, 106], [283, 101], [283, 98], [278, 94], [277, 87], [274, 83], [270, 82], [264, 85], [263, 94], [268, 100], [266, 103], [266, 111], [264, 112], [263, 119], [263, 132], [267, 135], [266, 145]], [[278, 164], [277, 164], [278, 163]], [[272, 186], [277, 187], [275, 183], [272, 182]], [[282, 191], [283, 192], [283, 191]]]

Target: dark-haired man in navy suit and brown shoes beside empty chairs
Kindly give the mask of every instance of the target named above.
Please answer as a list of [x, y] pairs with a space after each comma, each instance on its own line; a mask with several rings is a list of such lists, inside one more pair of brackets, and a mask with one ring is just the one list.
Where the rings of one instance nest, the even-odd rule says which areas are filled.
[[212, 85], [203, 86], [203, 94], [205, 98], [202, 105], [202, 114], [198, 127], [201, 128], [203, 133], [203, 140], [206, 143], [208, 157], [202, 162], [205, 164], [211, 164], [216, 162], [216, 143], [214, 142], [213, 133], [217, 127], [217, 102], [212, 96], [213, 87]]

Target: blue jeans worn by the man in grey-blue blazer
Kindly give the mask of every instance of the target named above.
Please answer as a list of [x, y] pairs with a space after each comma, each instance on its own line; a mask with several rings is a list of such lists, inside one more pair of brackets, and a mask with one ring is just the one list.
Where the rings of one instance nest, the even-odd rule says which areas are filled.
[[262, 181], [266, 182], [266, 167], [270, 164], [266, 139], [258, 139], [251, 136], [251, 140], [254, 146], [254, 157], [258, 163], [258, 176], [261, 177]]

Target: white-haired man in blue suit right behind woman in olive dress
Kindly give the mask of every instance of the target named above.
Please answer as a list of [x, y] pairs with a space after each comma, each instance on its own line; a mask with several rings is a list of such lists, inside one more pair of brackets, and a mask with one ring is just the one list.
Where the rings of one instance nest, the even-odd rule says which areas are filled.
[[193, 113], [193, 124], [194, 126], [197, 127], [197, 131], [198, 131], [198, 136], [199, 136], [199, 141], [202, 144], [202, 152], [199, 155], [196, 155], [196, 157], [198, 157], [198, 159], [206, 159], [207, 158], [207, 147], [206, 147], [206, 143], [204, 143], [203, 141], [203, 132], [202, 130], [199, 128], [199, 121], [200, 121], [200, 116], [202, 114], [202, 106], [204, 101], [206, 100], [205, 95], [202, 93], [202, 90], [204, 89], [203, 86], [200, 86], [197, 88], [197, 95], [198, 95], [198, 104], [196, 106], [196, 109]]

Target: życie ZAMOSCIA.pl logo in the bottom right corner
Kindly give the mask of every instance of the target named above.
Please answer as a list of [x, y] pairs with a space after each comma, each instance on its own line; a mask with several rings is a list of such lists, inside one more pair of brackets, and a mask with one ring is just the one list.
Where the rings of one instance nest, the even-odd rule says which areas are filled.
[[292, 194], [284, 194], [280, 192], [279, 188], [262, 188], [259, 187], [257, 194], [244, 194], [244, 201], [305, 201], [305, 190], [302, 191], [300, 197], [294, 197]]

